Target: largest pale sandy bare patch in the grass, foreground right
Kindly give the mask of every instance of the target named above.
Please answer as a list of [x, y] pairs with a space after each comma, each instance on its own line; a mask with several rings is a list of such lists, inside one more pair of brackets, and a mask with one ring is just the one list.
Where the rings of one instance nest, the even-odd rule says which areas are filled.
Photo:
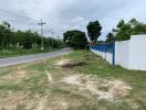
[[73, 75], [62, 80], [69, 85], [75, 85], [81, 90], [88, 90], [92, 95], [96, 95], [98, 99], [114, 100], [118, 97], [126, 97], [132, 89], [122, 80], [106, 80], [96, 78], [96, 76]]

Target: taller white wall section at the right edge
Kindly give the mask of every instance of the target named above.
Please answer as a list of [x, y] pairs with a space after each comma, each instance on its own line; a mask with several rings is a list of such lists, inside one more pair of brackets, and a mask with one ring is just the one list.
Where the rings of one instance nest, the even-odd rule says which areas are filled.
[[128, 68], [146, 70], [146, 35], [132, 35]]

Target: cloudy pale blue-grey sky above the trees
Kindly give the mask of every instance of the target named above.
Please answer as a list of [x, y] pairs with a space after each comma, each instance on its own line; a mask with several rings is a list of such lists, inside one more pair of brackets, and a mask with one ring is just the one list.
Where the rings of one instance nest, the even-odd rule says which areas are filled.
[[146, 23], [146, 0], [0, 0], [0, 22], [9, 22], [15, 30], [40, 32], [43, 19], [44, 35], [62, 37], [67, 30], [86, 32], [90, 21], [103, 26], [101, 40], [121, 19], [135, 18]]

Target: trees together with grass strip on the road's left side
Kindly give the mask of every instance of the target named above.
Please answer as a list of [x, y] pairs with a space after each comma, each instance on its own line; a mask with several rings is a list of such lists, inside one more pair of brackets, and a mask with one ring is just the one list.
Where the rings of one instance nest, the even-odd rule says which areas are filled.
[[[44, 50], [41, 50], [42, 46]], [[62, 47], [62, 40], [41, 36], [30, 30], [14, 31], [8, 22], [0, 24], [0, 57], [44, 53]]]

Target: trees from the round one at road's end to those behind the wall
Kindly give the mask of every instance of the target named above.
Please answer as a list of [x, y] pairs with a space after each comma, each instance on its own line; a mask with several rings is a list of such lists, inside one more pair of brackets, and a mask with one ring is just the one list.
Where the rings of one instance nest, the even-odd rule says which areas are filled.
[[102, 26], [98, 21], [90, 22], [86, 30], [88, 40], [84, 32], [72, 30], [66, 31], [63, 34], [63, 41], [73, 48], [85, 48], [88, 46], [88, 42], [91, 42], [91, 45], [94, 45], [96, 43], [126, 41], [131, 38], [131, 35], [146, 34], [146, 24], [136, 19], [132, 19], [127, 23], [124, 20], [121, 20], [117, 26], [106, 35], [106, 41], [98, 41], [102, 32]]

